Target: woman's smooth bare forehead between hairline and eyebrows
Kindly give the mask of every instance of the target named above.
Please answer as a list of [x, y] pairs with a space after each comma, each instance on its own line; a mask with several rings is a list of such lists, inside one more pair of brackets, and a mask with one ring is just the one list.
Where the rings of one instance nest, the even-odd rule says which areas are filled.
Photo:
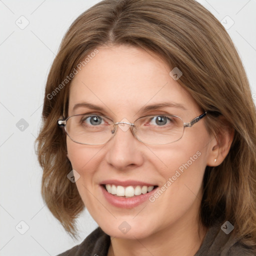
[[75, 104], [89, 102], [106, 112], [137, 113], [147, 104], [171, 102], [198, 107], [191, 95], [169, 75], [157, 55], [141, 48], [119, 45], [98, 48], [98, 53], [71, 81], [69, 115]]

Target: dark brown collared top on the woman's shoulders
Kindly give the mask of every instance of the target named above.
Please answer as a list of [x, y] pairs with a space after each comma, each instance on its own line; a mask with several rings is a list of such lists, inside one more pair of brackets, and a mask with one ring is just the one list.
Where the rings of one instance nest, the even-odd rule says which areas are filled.
[[[232, 231], [226, 234], [221, 223], [210, 227], [202, 244], [194, 256], [255, 256], [256, 252], [245, 247], [232, 237]], [[97, 227], [79, 245], [57, 256], [107, 256], [110, 236]], [[117, 255], [119, 256], [119, 255]]]

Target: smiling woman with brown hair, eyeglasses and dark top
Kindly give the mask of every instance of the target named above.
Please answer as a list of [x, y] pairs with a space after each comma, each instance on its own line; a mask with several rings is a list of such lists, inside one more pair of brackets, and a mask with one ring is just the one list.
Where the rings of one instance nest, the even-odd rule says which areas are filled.
[[233, 43], [194, 0], [104, 0], [50, 69], [38, 159], [60, 255], [255, 255], [256, 111]]

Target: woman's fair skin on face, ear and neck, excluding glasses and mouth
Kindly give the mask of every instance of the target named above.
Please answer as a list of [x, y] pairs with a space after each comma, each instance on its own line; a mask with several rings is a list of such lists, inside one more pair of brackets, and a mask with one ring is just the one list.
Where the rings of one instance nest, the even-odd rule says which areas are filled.
[[[114, 122], [123, 118], [133, 122], [147, 114], [175, 114], [188, 122], [203, 113], [171, 78], [167, 64], [152, 52], [127, 45], [98, 50], [71, 82], [68, 116], [90, 112], [109, 116]], [[73, 110], [75, 104], [85, 101], [104, 111]], [[140, 111], [145, 105], [163, 101], [182, 104], [185, 109]], [[144, 144], [130, 129], [120, 128], [103, 145], [82, 145], [67, 136], [67, 157], [80, 175], [76, 181], [79, 194], [94, 220], [111, 236], [108, 255], [185, 256], [198, 250], [206, 232], [198, 225], [203, 173], [206, 165], [222, 162], [232, 140], [230, 132], [223, 132], [220, 140], [208, 134], [205, 118], [186, 127], [180, 140], [165, 145]], [[200, 156], [154, 202], [118, 208], [102, 194], [99, 183], [105, 179], [132, 179], [161, 187], [197, 151]], [[118, 228], [123, 221], [131, 226], [125, 234]]]

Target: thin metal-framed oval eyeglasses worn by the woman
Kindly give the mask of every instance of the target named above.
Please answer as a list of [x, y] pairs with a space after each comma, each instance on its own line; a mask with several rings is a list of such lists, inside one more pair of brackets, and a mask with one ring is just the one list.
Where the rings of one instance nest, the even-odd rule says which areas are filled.
[[[179, 140], [184, 127], [191, 127], [206, 115], [206, 112], [193, 118], [190, 122], [176, 115], [146, 115], [139, 117], [133, 123], [113, 122], [109, 117], [97, 114], [75, 114], [64, 120], [58, 120], [58, 125], [64, 125], [66, 134], [79, 144], [101, 145], [110, 140], [116, 133], [117, 125], [123, 131], [130, 127], [132, 134], [145, 144], [168, 144]], [[129, 126], [127, 126], [129, 125]]]

